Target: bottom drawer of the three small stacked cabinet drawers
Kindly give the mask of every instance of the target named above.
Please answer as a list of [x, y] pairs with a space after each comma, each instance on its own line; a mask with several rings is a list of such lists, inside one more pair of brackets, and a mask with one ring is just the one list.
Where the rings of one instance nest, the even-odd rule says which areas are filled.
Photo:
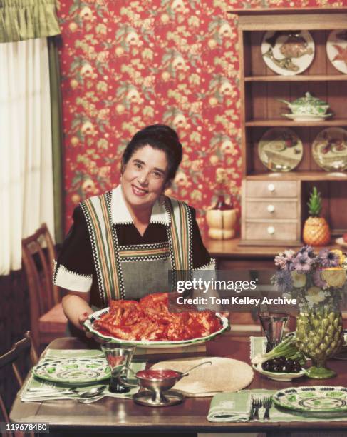
[[247, 240], [296, 240], [297, 223], [269, 221], [267, 223], [246, 222]]

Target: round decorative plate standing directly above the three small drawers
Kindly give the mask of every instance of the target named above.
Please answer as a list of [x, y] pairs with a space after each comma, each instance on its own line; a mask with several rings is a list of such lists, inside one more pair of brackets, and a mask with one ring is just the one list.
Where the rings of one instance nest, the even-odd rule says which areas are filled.
[[301, 139], [294, 131], [273, 128], [266, 131], [258, 144], [261, 162], [271, 171], [291, 171], [303, 155]]

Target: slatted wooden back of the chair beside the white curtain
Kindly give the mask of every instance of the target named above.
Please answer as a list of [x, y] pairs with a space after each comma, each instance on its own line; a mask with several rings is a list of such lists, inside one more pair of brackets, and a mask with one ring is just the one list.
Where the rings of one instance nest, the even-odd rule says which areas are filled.
[[30, 295], [31, 332], [39, 345], [39, 318], [61, 301], [59, 288], [53, 286], [56, 251], [46, 223], [22, 240], [22, 259]]

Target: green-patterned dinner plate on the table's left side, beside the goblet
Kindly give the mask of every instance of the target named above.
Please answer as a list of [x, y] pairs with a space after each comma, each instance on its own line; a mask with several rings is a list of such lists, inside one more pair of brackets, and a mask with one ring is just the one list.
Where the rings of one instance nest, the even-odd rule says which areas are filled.
[[33, 368], [34, 376], [55, 383], [83, 384], [110, 378], [105, 358], [47, 359]]

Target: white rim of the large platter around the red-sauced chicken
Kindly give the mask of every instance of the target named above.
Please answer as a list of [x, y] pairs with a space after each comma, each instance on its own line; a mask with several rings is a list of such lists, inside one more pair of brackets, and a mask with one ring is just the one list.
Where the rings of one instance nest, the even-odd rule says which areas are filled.
[[197, 345], [200, 343], [205, 343], [206, 341], [212, 340], [212, 338], [219, 336], [220, 334], [224, 333], [229, 329], [229, 321], [226, 317], [221, 316], [219, 313], [216, 313], [216, 316], [220, 319], [222, 326], [221, 328], [210, 334], [206, 337], [198, 337], [198, 338], [192, 338], [191, 340], [182, 340], [182, 341], [126, 341], [121, 338], [116, 338], [113, 336], [104, 335], [103, 333], [100, 333], [93, 327], [93, 322], [95, 320], [98, 320], [103, 314], [108, 313], [110, 308], [104, 308], [99, 311], [95, 311], [95, 313], [90, 314], [88, 319], [85, 321], [84, 326], [85, 328], [93, 333], [98, 338], [101, 338], [105, 341], [113, 341], [114, 343], [121, 343], [126, 344], [130, 346], [138, 346], [143, 348], [182, 348], [186, 346], [191, 345]]

